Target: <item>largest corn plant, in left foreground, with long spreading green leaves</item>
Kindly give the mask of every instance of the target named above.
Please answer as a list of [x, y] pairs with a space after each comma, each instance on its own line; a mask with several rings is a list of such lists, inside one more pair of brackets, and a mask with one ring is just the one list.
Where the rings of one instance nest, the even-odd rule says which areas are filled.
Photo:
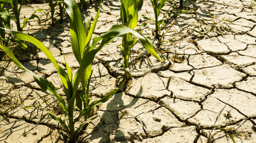
[[[36, 47], [38, 47], [40, 50], [42, 50], [45, 53], [45, 55], [50, 61], [52, 61], [52, 63], [56, 68], [56, 71], [59, 74], [61, 82], [63, 84], [65, 95], [67, 97], [66, 101], [56, 92], [56, 88], [54, 87], [52, 82], [42, 77], [38, 77], [32, 71], [25, 68], [20, 63], [20, 61], [18, 61], [15, 58], [15, 56], [13, 55], [13, 53], [8, 47], [0, 44], [0, 48], [11, 58], [11, 60], [19, 68], [33, 75], [35, 82], [37, 82], [37, 84], [42, 88], [42, 90], [56, 97], [56, 99], [59, 102], [60, 109], [64, 113], [64, 118], [61, 118], [62, 116], [57, 117], [54, 113], [52, 113], [46, 108], [43, 108], [43, 109], [45, 109], [54, 120], [56, 120], [58, 123], [60, 123], [63, 126], [63, 128], [69, 134], [69, 137], [70, 137], [69, 140], [71, 142], [76, 142], [77, 135], [80, 129], [82, 129], [86, 125], [86, 123], [89, 123], [92, 119], [95, 118], [95, 117], [90, 117], [90, 113], [93, 110], [93, 108], [99, 105], [100, 103], [106, 102], [118, 90], [118, 89], [115, 89], [111, 91], [108, 95], [104, 96], [98, 101], [90, 102], [89, 83], [90, 83], [90, 77], [92, 75], [91, 63], [94, 60], [95, 54], [99, 52], [100, 49], [106, 43], [108, 43], [113, 38], [118, 36], [114, 36], [111, 38], [95, 37], [92, 41], [92, 44], [90, 45], [91, 36], [95, 29], [95, 26], [100, 14], [100, 9], [98, 10], [92, 24], [90, 24], [90, 19], [91, 19], [90, 17], [86, 18], [85, 22], [83, 23], [82, 15], [78, 9], [78, 5], [76, 1], [65, 0], [64, 2], [65, 2], [67, 13], [70, 16], [70, 34], [71, 34], [72, 49], [78, 63], [80, 64], [74, 78], [72, 78], [73, 77], [72, 71], [67, 64], [65, 56], [64, 56], [64, 60], [66, 63], [67, 72], [57, 64], [54, 56], [50, 53], [50, 51], [45, 47], [43, 43], [38, 41], [36, 38], [19, 31], [12, 31], [9, 29], [5, 29], [5, 30], [9, 31], [19, 40], [33, 43]], [[118, 34], [118, 35], [122, 36], [122, 34]], [[97, 43], [100, 40], [102, 40], [100, 45], [96, 47]], [[120, 86], [122, 86], [122, 84]], [[79, 115], [76, 118], [74, 118], [75, 112], [79, 112]], [[78, 123], [81, 117], [85, 118], [85, 122], [81, 123], [78, 128], [75, 128], [75, 123]]]

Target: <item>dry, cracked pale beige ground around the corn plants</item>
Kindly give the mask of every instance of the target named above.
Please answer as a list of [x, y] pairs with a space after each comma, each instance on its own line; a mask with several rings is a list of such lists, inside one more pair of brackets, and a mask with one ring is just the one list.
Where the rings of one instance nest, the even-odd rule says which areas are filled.
[[[137, 43], [131, 54], [133, 78], [108, 102], [95, 109], [99, 115], [79, 135], [83, 143], [256, 143], [256, 2], [252, 0], [189, 0], [189, 13], [170, 9], [168, 26], [160, 51], [165, 62], [149, 56]], [[47, 3], [28, 4], [21, 18], [33, 10], [49, 10]], [[167, 12], [170, 4], [163, 8]], [[82, 15], [95, 16], [95, 5]], [[42, 41], [65, 68], [63, 55], [74, 73], [69, 18], [60, 27], [50, 25], [44, 13], [41, 25], [31, 21], [25, 32]], [[154, 18], [150, 0], [139, 15]], [[160, 14], [160, 18], [163, 15]], [[21, 19], [21, 20], [22, 20]], [[153, 36], [155, 26], [147, 23], [143, 34]], [[120, 1], [104, 0], [94, 36], [121, 24]], [[15, 25], [14, 29], [15, 29]], [[161, 31], [165, 33], [166, 30]], [[116, 88], [122, 79], [122, 40], [106, 45], [93, 62], [91, 98], [97, 100]], [[156, 47], [157, 48], [157, 47]], [[19, 55], [28, 69], [53, 82], [65, 97], [53, 64], [43, 52], [32, 48]], [[139, 56], [141, 55], [141, 56]], [[139, 58], [137, 58], [139, 56]], [[0, 61], [0, 142], [63, 143], [67, 136], [43, 106], [60, 115], [50, 95], [40, 91], [33, 77], [7, 59]], [[224, 128], [223, 132], [218, 128]], [[211, 141], [211, 142], [210, 142]]]

